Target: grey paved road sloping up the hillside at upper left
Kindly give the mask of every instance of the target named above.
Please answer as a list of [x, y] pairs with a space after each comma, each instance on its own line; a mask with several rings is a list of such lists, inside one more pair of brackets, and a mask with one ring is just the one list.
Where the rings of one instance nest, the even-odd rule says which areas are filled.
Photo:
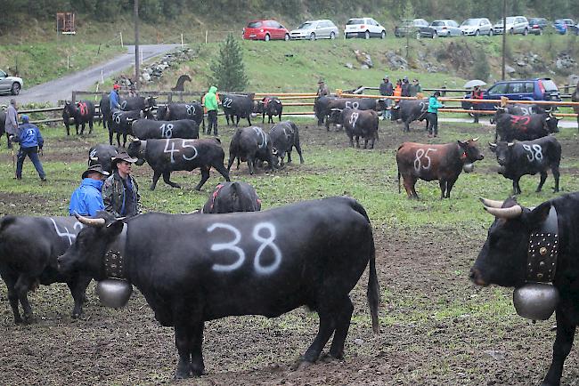
[[[140, 45], [139, 49], [143, 52], [143, 61], [145, 61], [179, 46], [180, 44], [147, 44]], [[24, 89], [15, 98], [20, 104], [46, 101], [56, 106], [58, 101], [69, 100], [73, 90], [94, 91], [94, 84], [101, 80], [101, 70], [102, 76], [107, 78], [126, 68], [130, 68], [134, 64], [135, 45], [127, 45], [126, 53], [106, 63], [63, 76], [45, 84], [38, 84], [27, 89], [26, 79], [24, 79]], [[8, 104], [11, 98], [14, 97], [10, 95], [1, 96], [0, 105]]]

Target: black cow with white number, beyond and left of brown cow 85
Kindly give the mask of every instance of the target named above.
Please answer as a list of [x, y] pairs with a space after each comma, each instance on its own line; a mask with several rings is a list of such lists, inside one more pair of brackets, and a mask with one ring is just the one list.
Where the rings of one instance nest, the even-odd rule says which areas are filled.
[[374, 110], [334, 109], [330, 121], [337, 125], [344, 125], [350, 146], [360, 148], [360, 137], [364, 139], [364, 149], [374, 149], [374, 141], [378, 140], [378, 113]]

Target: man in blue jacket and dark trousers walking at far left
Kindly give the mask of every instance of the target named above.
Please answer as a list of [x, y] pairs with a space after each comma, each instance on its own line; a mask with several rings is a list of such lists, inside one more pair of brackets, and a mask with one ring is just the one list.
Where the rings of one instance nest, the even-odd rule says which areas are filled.
[[22, 179], [22, 165], [26, 156], [28, 156], [34, 167], [37, 168], [40, 180], [46, 181], [45, 170], [42, 168], [40, 158], [38, 158], [38, 150], [42, 153], [45, 141], [38, 127], [29, 123], [29, 116], [22, 115], [20, 118], [22, 119], [22, 125], [18, 127], [18, 134], [10, 137], [11, 141], [20, 142], [20, 151], [16, 161], [16, 178], [18, 180]]

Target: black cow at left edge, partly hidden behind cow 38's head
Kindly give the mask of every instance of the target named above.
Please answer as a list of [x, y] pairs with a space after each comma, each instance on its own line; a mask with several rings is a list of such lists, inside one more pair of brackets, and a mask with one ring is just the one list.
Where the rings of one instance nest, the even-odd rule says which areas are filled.
[[83, 225], [74, 217], [4, 216], [0, 219], [0, 276], [8, 288], [14, 323], [33, 321], [27, 294], [38, 285], [66, 283], [74, 298], [72, 318], [82, 313], [91, 277], [62, 275], [56, 259], [72, 245]]

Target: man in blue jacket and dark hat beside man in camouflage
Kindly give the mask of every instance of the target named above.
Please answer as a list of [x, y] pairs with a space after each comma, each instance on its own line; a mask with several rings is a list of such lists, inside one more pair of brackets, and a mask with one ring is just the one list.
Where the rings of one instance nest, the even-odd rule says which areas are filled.
[[108, 175], [108, 172], [102, 170], [101, 165], [92, 165], [86, 169], [82, 174], [83, 181], [70, 196], [69, 214], [71, 216], [78, 213], [94, 217], [98, 211], [104, 210], [101, 189], [102, 182]]

